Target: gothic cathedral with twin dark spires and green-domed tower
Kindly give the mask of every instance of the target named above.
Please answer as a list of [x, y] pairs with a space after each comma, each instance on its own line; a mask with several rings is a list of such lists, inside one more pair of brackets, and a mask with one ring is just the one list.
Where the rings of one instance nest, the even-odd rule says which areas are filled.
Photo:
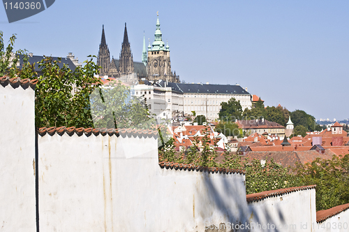
[[[148, 55], [148, 58], [147, 58]], [[124, 41], [121, 44], [119, 59], [110, 61], [110, 52], [105, 41], [104, 25], [102, 28], [101, 44], [98, 51], [98, 66], [100, 75], [108, 75], [119, 78], [123, 75], [137, 73], [138, 79], [147, 80], [168, 80], [168, 82], [179, 82], [179, 76], [171, 71], [170, 49], [163, 43], [160, 31], [160, 22], [156, 21], [155, 40], [148, 46], [148, 53], [145, 48], [145, 36], [143, 37], [142, 62], [133, 61], [131, 45], [128, 42], [127, 28], [125, 23]]]

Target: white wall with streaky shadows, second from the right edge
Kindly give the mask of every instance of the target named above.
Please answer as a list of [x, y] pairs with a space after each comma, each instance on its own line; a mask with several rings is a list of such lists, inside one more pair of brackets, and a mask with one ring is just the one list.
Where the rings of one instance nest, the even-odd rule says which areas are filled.
[[315, 231], [315, 189], [265, 198], [248, 203], [248, 208], [249, 220], [255, 225], [251, 231]]

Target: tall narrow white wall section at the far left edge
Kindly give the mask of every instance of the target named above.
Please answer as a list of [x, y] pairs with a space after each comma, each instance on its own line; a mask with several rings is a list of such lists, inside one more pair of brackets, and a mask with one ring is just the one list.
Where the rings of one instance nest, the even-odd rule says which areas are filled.
[[36, 231], [34, 91], [0, 85], [0, 231]]

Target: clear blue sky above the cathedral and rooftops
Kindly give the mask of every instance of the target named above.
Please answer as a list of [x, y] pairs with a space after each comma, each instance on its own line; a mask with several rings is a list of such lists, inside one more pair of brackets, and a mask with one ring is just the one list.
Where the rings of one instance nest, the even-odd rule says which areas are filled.
[[[266, 106], [304, 110], [316, 119], [349, 117], [349, 1], [66, 1], [8, 23], [15, 49], [79, 61], [98, 55], [102, 24], [119, 57], [127, 23], [134, 61], [143, 31], [154, 41], [158, 11], [172, 71], [186, 82], [239, 84]], [[148, 44], [147, 44], [148, 45]]]

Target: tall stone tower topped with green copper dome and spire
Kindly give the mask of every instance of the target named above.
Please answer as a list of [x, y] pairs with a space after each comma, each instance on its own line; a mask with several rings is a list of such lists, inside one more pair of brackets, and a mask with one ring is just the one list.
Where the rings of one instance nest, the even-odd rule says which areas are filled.
[[156, 20], [155, 40], [148, 46], [147, 73], [148, 80], [168, 80], [169, 82], [179, 82], [171, 71], [170, 48], [163, 43], [160, 30], [160, 22]]

